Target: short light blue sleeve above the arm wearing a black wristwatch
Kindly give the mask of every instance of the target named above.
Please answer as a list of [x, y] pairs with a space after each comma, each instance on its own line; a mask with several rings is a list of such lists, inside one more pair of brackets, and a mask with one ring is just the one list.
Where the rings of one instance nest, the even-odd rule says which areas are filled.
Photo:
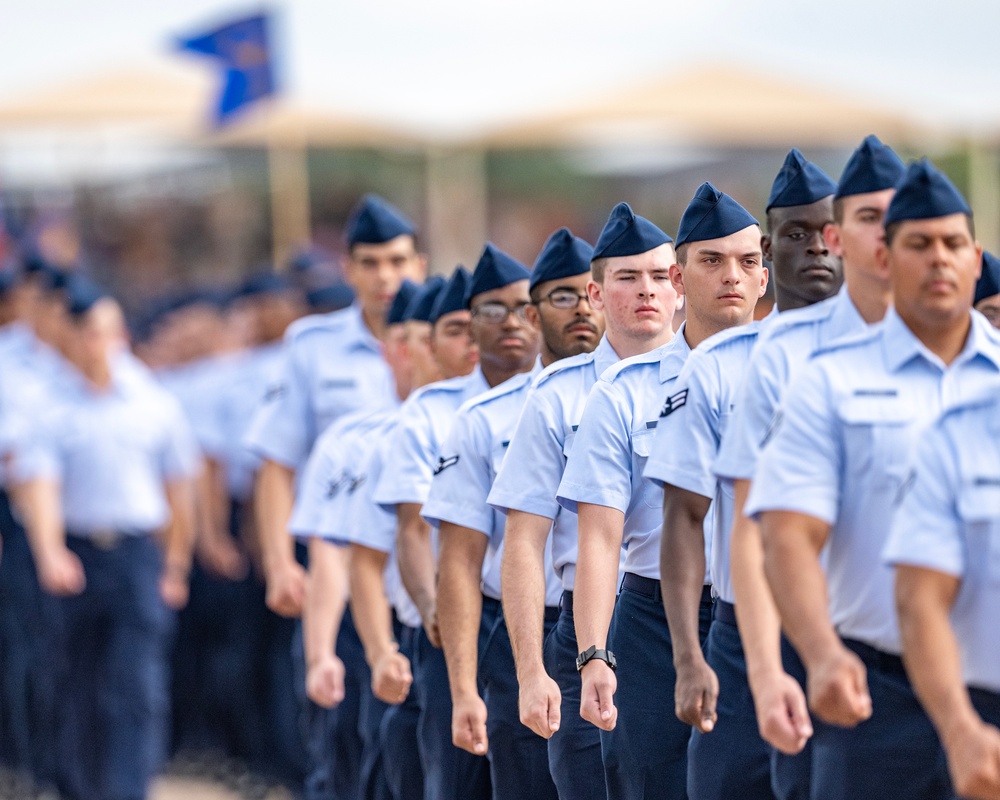
[[632, 414], [613, 383], [594, 384], [566, 461], [558, 500], [576, 513], [579, 503], [616, 508], [632, 500]]

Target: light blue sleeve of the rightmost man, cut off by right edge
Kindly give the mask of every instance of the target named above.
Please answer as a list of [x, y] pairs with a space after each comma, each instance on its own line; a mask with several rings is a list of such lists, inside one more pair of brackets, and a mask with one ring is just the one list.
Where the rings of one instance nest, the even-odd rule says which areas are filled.
[[883, 560], [963, 575], [966, 557], [958, 508], [961, 481], [952, 445], [942, 427], [931, 428], [921, 442], [900, 494]]

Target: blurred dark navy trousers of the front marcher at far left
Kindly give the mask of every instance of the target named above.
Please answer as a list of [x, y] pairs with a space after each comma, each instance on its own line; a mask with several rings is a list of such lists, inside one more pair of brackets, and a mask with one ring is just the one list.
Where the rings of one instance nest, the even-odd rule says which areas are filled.
[[66, 800], [142, 800], [166, 756], [173, 613], [149, 536], [67, 537], [87, 579], [63, 598], [59, 789]]

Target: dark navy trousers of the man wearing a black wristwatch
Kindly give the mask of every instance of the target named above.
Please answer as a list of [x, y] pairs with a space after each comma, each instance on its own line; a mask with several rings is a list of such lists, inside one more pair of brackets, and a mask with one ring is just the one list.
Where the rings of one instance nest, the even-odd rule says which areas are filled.
[[[706, 590], [699, 618], [703, 642], [711, 609]], [[659, 581], [625, 574], [608, 646], [618, 659], [618, 724], [613, 731], [601, 731], [608, 797], [686, 798], [691, 727], [674, 714], [677, 673]]]

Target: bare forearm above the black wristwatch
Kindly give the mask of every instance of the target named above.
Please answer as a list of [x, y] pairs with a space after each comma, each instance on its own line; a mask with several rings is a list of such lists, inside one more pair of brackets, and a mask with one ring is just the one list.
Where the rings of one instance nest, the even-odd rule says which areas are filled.
[[607, 506], [578, 506], [579, 550], [573, 587], [573, 619], [581, 650], [607, 647], [615, 610], [625, 515]]

